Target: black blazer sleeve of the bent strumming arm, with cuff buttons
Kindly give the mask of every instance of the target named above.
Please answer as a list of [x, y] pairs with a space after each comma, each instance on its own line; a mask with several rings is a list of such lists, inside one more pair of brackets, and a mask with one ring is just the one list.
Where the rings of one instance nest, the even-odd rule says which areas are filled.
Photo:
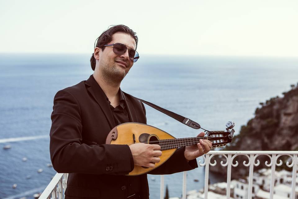
[[50, 155], [58, 173], [128, 174], [133, 156], [128, 145], [82, 143], [81, 110], [75, 97], [60, 90], [51, 115]]

